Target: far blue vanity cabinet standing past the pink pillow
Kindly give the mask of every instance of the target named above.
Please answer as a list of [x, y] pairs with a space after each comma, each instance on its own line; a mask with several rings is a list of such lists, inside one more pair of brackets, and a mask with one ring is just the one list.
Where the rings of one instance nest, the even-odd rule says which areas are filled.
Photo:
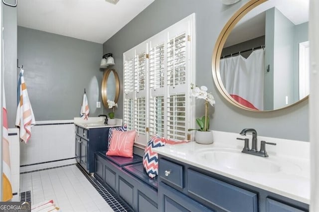
[[83, 128], [75, 125], [75, 159], [88, 172], [94, 172], [94, 153], [107, 151], [109, 127]]

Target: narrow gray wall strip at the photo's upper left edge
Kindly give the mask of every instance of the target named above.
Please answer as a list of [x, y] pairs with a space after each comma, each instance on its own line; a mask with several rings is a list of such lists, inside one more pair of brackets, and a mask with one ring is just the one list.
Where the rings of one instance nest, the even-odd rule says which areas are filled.
[[[13, 0], [6, 1], [14, 3]], [[8, 118], [8, 127], [15, 127], [16, 114], [16, 23], [17, 9], [2, 3], [2, 24], [3, 24], [3, 51], [4, 51], [4, 90], [6, 100], [6, 110]], [[14, 97], [14, 98], [13, 98]]]

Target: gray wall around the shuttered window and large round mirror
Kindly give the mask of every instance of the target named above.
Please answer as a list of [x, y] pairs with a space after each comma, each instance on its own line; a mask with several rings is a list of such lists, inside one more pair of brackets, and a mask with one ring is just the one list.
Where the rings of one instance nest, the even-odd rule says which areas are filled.
[[[121, 85], [123, 82], [123, 52], [187, 15], [196, 13], [196, 83], [206, 85], [215, 97], [216, 105], [211, 118], [211, 129], [240, 132], [253, 127], [259, 135], [309, 140], [308, 100], [286, 109], [272, 112], [246, 111], [229, 104], [219, 94], [212, 78], [212, 52], [221, 29], [228, 19], [247, 0], [223, 5], [219, 0], [155, 0], [112, 38], [103, 44], [104, 53], [112, 52]], [[116, 110], [122, 116], [123, 94]], [[203, 106], [196, 102], [196, 116], [203, 114]], [[234, 140], [234, 142], [237, 142]]]

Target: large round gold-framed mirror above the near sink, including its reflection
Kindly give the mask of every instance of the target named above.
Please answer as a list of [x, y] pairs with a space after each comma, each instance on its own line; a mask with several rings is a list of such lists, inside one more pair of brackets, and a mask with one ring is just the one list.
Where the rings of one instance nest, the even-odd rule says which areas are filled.
[[[304, 15], [300, 19], [293, 19], [299, 15], [284, 11], [285, 7], [293, 6], [289, 0], [249, 0], [229, 19], [216, 41], [212, 58], [215, 85], [229, 103], [242, 109], [261, 112], [287, 108], [308, 99], [309, 67], [301, 70], [301, 67], [307, 66], [309, 57], [307, 53], [306, 56], [301, 56], [301, 52], [305, 51], [301, 45], [309, 47], [309, 10], [301, 11], [307, 8], [309, 2], [306, 1], [303, 1], [305, 5], [299, 3], [294, 9], [290, 8]], [[263, 22], [260, 24], [260, 21]], [[290, 25], [278, 26], [282, 22]], [[286, 28], [291, 31], [280, 31]], [[262, 29], [264, 35], [260, 32]], [[254, 30], [259, 30], [258, 33], [261, 34], [244, 37], [253, 35]], [[288, 35], [292, 35], [292, 38]], [[286, 45], [288, 40], [290, 46]], [[247, 47], [246, 44], [250, 46]], [[309, 52], [309, 48], [307, 51]], [[261, 58], [260, 63], [253, 62], [259, 64], [258, 67], [247, 65], [254, 59], [252, 55]], [[286, 61], [288, 62], [285, 63]], [[249, 68], [244, 72], [237, 72], [242, 66], [252, 66], [250, 69], [254, 72], [250, 72]], [[260, 70], [259, 75], [256, 75], [255, 70]], [[243, 75], [250, 79], [246, 80]], [[257, 94], [253, 94], [254, 92]]]

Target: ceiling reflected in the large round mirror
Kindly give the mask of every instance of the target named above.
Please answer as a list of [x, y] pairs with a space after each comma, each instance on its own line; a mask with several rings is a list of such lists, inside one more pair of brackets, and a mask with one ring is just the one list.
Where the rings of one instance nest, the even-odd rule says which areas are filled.
[[276, 7], [295, 25], [309, 20], [309, 0], [268, 0], [248, 12], [229, 34], [224, 47], [265, 35], [265, 11]]

